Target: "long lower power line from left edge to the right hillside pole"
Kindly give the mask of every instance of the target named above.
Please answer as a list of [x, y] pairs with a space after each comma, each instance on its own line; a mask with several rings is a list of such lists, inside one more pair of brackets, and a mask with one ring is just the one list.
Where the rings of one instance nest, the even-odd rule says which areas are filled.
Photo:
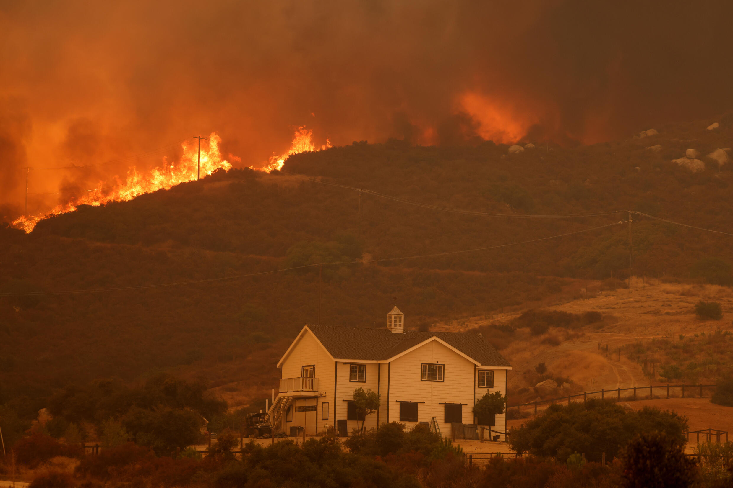
[[[579, 233], [583, 233], [583, 232], [590, 232], [592, 230], [599, 230], [599, 229], [611, 227], [611, 226], [614, 226], [614, 225], [620, 225], [620, 224], [624, 224], [624, 223], [625, 223], [625, 221], [614, 222], [612, 224], [600, 225], [598, 227], [593, 227], [593, 228], [588, 228], [588, 229], [583, 229], [583, 230], [575, 230], [574, 232], [568, 232], [568, 233], [564, 233], [564, 234], [558, 234], [557, 236], [540, 237], [538, 239], [530, 239], [528, 241], [521, 241], [521, 242], [511, 242], [509, 244], [498, 244], [496, 246], [478, 247], [478, 248], [475, 248], [475, 249], [463, 249], [463, 250], [460, 250], [460, 251], [435, 252], [433, 254], [416, 255], [416, 256], [402, 256], [401, 258], [382, 258], [382, 259], [375, 259], [375, 260], [370, 260], [369, 263], [383, 263], [383, 262], [386, 262], [386, 261], [396, 261], [396, 260], [401, 260], [401, 259], [435, 258], [437, 256], [446, 256], [446, 255], [462, 254], [462, 253], [465, 253], [465, 252], [486, 251], [488, 249], [498, 249], [500, 247], [518, 246], [520, 244], [530, 244], [532, 242], [547, 241], [549, 239], [557, 239], [559, 237], [572, 236], [573, 234], [579, 234]], [[340, 266], [340, 265], [350, 265], [350, 264], [360, 264], [360, 263], [364, 263], [364, 261], [362, 261], [362, 260], [333, 261], [333, 262], [330, 262], [330, 263], [306, 264], [306, 265], [303, 265], [303, 266], [293, 266], [292, 268], [273, 269], [273, 270], [270, 270], [270, 271], [259, 271], [258, 273], [236, 274], [236, 275], [230, 276], [230, 277], [218, 277], [218, 278], [207, 278], [207, 279], [193, 279], [193, 280], [182, 281], [182, 282], [156, 283], [156, 284], [152, 284], [152, 285], [124, 286], [124, 287], [118, 287], [118, 288], [96, 288], [96, 289], [86, 289], [86, 290], [59, 290], [59, 291], [32, 291], [32, 292], [26, 292], [26, 293], [0, 293], [0, 297], [4, 297], [4, 296], [68, 295], [68, 294], [72, 294], [72, 293], [97, 293], [97, 292], [107, 292], [107, 291], [144, 290], [144, 289], [147, 289], [147, 288], [163, 288], [163, 287], [169, 287], [169, 286], [195, 285], [197, 283], [217, 282], [217, 281], [224, 281], [226, 279], [240, 279], [240, 278], [246, 278], [246, 277], [261, 276], [262, 274], [279, 273], [281, 271], [294, 271], [296, 269], [313, 268], [315, 266], [336, 266], [336, 265], [339, 265]]]

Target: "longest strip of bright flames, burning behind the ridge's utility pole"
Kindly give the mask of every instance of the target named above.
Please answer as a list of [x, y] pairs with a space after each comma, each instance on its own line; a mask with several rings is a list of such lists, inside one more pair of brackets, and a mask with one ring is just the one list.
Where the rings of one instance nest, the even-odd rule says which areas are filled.
[[[215, 170], [223, 169], [228, 171], [232, 165], [221, 157], [219, 152], [221, 138], [216, 132], [209, 136], [208, 148], [201, 149], [201, 174], [210, 175]], [[198, 165], [198, 144], [193, 141], [185, 141], [181, 144], [183, 156], [177, 163], [169, 162], [163, 158], [163, 165], [150, 170], [147, 174], [141, 173], [136, 168], [129, 168], [124, 181], [116, 177], [114, 186], [105, 186], [100, 181], [95, 189], [84, 190], [84, 195], [73, 198], [68, 203], [62, 203], [45, 214], [23, 215], [12, 222], [15, 228], [21, 228], [30, 233], [40, 220], [53, 215], [65, 214], [75, 211], [79, 205], [100, 206], [111, 201], [127, 201], [144, 193], [155, 192], [158, 189], [169, 189], [174, 185], [193, 181], [196, 179], [196, 167]]]

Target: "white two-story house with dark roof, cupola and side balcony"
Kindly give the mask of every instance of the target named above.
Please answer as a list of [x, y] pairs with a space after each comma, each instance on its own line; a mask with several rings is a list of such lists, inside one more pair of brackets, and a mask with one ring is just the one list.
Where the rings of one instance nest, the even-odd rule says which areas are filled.
[[347, 435], [361, 424], [353, 392], [362, 387], [380, 394], [367, 429], [399, 421], [408, 428], [425, 422], [444, 436], [452, 423], [493, 425], [495, 437], [506, 432], [506, 413], [477, 419], [473, 406], [487, 391], [506, 394], [509, 362], [481, 334], [405, 331], [404, 322], [394, 307], [386, 329], [304, 326], [278, 363], [273, 427]]

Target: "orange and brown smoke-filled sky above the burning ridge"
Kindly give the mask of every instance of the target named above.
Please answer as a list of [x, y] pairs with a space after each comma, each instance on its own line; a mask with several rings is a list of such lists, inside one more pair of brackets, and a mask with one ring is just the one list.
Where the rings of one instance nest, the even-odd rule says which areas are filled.
[[26, 166], [114, 163], [32, 170], [32, 193], [63, 199], [215, 131], [247, 167], [301, 126], [317, 145], [593, 143], [722, 113], [732, 13], [730, 1], [6, 0], [0, 215], [23, 210]]

